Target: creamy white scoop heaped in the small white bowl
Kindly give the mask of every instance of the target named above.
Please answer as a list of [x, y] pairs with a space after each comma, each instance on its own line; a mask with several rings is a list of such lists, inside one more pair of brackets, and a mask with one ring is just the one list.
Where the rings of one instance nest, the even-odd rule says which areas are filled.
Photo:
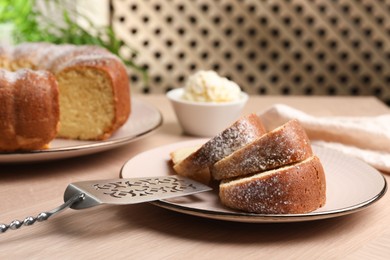
[[240, 98], [241, 89], [215, 71], [198, 71], [188, 78], [183, 99], [195, 102], [230, 102]]

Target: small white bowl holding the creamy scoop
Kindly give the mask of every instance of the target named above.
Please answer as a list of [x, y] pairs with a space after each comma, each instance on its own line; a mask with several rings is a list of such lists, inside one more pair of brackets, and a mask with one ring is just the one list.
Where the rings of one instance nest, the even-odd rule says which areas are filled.
[[234, 123], [248, 101], [248, 94], [241, 92], [238, 101], [211, 103], [183, 100], [183, 88], [167, 92], [176, 117], [184, 133], [194, 136], [211, 137]]

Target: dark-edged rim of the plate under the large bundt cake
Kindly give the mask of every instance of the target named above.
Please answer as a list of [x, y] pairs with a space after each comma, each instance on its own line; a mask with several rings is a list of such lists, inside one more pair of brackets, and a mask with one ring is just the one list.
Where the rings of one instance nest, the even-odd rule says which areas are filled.
[[[49, 149], [39, 149], [39, 150], [33, 150], [33, 151], [27, 151], [27, 152], [13, 152], [13, 153], [0, 153], [0, 164], [12, 164], [12, 163], [21, 163], [21, 162], [38, 162], [38, 161], [49, 161], [49, 160], [57, 160], [57, 159], [65, 159], [65, 158], [71, 158], [71, 157], [79, 157], [82, 155], [87, 154], [94, 154], [97, 152], [113, 149], [134, 141], [137, 141], [143, 137], [146, 137], [147, 135], [151, 134], [152, 132], [156, 131], [158, 128], [160, 128], [164, 122], [163, 115], [161, 111], [154, 107], [153, 105], [141, 101], [136, 98], [132, 98], [131, 100], [132, 106], [136, 104], [137, 106], [153, 109], [154, 112], [156, 112], [156, 115], [158, 116], [158, 122], [151, 126], [150, 128], [146, 129], [145, 131], [142, 131], [141, 133], [138, 133], [136, 135], [128, 135], [125, 137], [120, 138], [114, 138], [114, 139], [106, 139], [101, 141], [90, 141], [90, 143], [83, 143], [83, 144], [76, 144], [72, 146], [66, 146], [66, 147], [55, 147], [55, 148], [49, 148]], [[132, 108], [133, 109], [133, 108]], [[128, 120], [131, 120], [131, 116]], [[56, 138], [55, 138], [56, 139]], [[55, 140], [53, 139], [53, 140]], [[66, 139], [60, 139], [65, 140]], [[101, 149], [99, 149], [101, 148]], [[94, 150], [95, 151], [90, 151]], [[74, 151], [86, 151], [84, 154], [79, 155], [70, 155], [71, 152]], [[42, 154], [46, 155], [57, 155], [58, 153], [63, 153], [64, 156], [61, 157], [53, 157], [50, 156], [45, 159], [39, 159], [38, 156], [41, 156]]]

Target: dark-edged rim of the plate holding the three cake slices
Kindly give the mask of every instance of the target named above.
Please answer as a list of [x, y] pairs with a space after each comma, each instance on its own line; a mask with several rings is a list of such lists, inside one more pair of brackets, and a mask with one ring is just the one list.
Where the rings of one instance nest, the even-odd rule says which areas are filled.
[[[151, 152], [153, 150], [157, 149], [164, 149], [169, 146], [174, 146], [174, 145], [181, 145], [185, 143], [192, 143], [193, 145], [196, 144], [197, 142], [201, 143], [202, 141], [204, 142], [207, 139], [201, 139], [201, 138], [196, 138], [192, 140], [185, 140], [185, 141], [179, 141], [163, 146], [159, 146], [147, 151], [144, 151], [142, 153], [139, 153], [135, 155], [134, 157], [130, 158], [126, 163], [122, 166], [120, 170], [120, 178], [123, 178], [123, 171], [126, 167], [126, 165], [133, 159], [135, 159], [137, 156], [141, 156], [142, 154]], [[342, 209], [334, 209], [334, 210], [327, 210], [327, 211], [312, 211], [308, 213], [300, 213], [300, 214], [256, 214], [256, 213], [247, 213], [247, 212], [240, 212], [240, 211], [235, 211], [233, 209], [231, 212], [225, 212], [225, 211], [216, 211], [212, 209], [199, 209], [199, 208], [193, 208], [193, 207], [188, 207], [188, 206], [183, 206], [175, 203], [170, 203], [166, 200], [158, 200], [158, 201], [152, 201], [149, 202], [150, 204], [154, 206], [158, 206], [160, 208], [164, 208], [167, 210], [171, 210], [174, 212], [179, 212], [187, 215], [192, 215], [196, 217], [202, 217], [202, 218], [208, 218], [208, 219], [214, 219], [214, 220], [223, 220], [223, 221], [232, 221], [232, 222], [243, 222], [243, 223], [283, 223], [283, 222], [302, 222], [302, 221], [314, 221], [314, 220], [320, 220], [320, 219], [329, 219], [329, 218], [335, 218], [339, 216], [344, 216], [344, 215], [349, 215], [358, 211], [361, 211], [371, 205], [373, 205], [375, 202], [379, 201], [387, 192], [388, 189], [388, 184], [386, 181], [386, 178], [384, 175], [379, 172], [377, 169], [374, 167], [368, 165], [366, 162], [343, 154], [340, 151], [326, 148], [326, 147], [321, 147], [316, 144], [312, 144], [313, 148], [319, 148], [323, 149], [325, 151], [331, 151], [332, 153], [338, 153], [341, 154], [342, 156], [348, 157], [352, 160], [357, 160], [360, 163], [365, 164], [367, 167], [371, 168], [374, 170], [375, 173], [377, 173], [381, 179], [383, 180], [383, 187], [381, 187], [381, 190], [375, 194], [375, 196], [371, 197], [368, 200], [361, 201], [357, 204], [351, 205], [349, 207], [344, 207]], [[127, 176], [126, 176], [127, 178]], [[378, 189], [379, 190], [379, 189]], [[210, 191], [209, 191], [210, 192]], [[211, 191], [212, 192], [212, 191]]]

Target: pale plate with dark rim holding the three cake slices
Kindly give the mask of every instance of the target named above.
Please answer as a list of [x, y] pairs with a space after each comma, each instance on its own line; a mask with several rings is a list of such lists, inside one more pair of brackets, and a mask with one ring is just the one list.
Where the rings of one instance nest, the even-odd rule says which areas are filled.
[[[122, 168], [121, 177], [151, 177], [172, 174], [169, 153], [180, 148], [204, 143], [191, 140], [155, 148], [129, 160]], [[326, 204], [306, 214], [251, 214], [222, 206], [215, 192], [152, 202], [154, 205], [199, 217], [238, 222], [296, 222], [325, 219], [351, 214], [372, 205], [386, 192], [386, 180], [376, 169], [337, 151], [313, 146], [320, 158], [327, 181]], [[140, 176], [141, 174], [141, 176]]]

